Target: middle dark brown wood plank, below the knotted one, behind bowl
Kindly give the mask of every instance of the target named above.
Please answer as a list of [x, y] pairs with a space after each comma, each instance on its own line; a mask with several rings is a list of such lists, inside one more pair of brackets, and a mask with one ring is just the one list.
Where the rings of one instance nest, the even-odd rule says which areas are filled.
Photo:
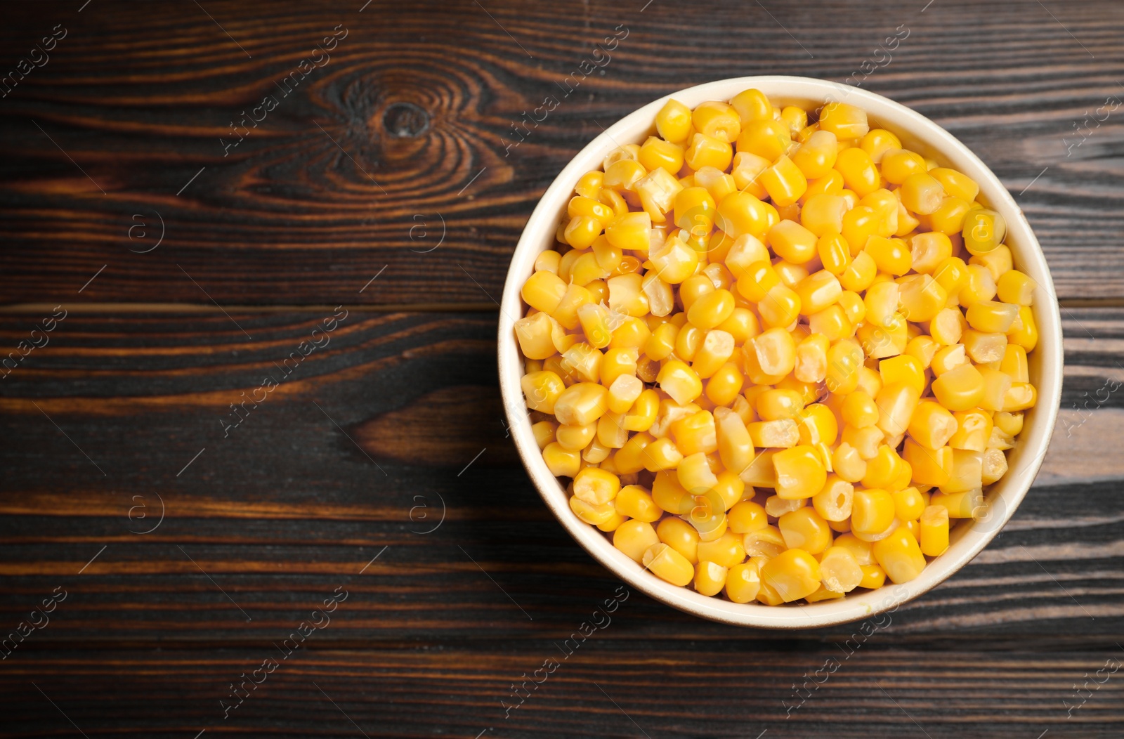
[[[336, 585], [353, 596], [329, 644], [487, 639], [495, 628], [528, 640], [580, 622], [617, 583], [551, 518], [505, 438], [495, 313], [348, 313], [297, 364], [291, 353], [330, 316], [66, 317], [2, 381], [6, 622], [62, 586], [70, 599], [29, 645], [260, 645]], [[16, 341], [34, 325], [2, 316], [0, 336]], [[1072, 402], [1071, 381], [1117, 372], [1124, 321], [1082, 309], [1066, 329]], [[278, 387], [224, 437], [237, 418], [230, 403], [265, 375]], [[1095, 448], [1109, 412], [1118, 409], [1097, 410], [1055, 444]], [[1064, 457], [1051, 454], [1052, 476], [1001, 538], [904, 606], [888, 639], [1048, 633], [1089, 644], [1120, 632], [1121, 476]], [[165, 518], [138, 533], [161, 521], [161, 501]], [[631, 611], [651, 638], [773, 638], [640, 594]]]

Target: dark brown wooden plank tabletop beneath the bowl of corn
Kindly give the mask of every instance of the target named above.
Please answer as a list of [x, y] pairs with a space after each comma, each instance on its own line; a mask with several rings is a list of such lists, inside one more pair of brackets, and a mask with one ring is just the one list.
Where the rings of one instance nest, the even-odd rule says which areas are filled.
[[[1109, 0], [6, 7], [0, 632], [29, 633], [0, 733], [1120, 737], [1122, 34]], [[888, 619], [778, 636], [618, 591], [507, 438], [523, 223], [656, 97], [867, 60], [1042, 241], [1045, 466]]]

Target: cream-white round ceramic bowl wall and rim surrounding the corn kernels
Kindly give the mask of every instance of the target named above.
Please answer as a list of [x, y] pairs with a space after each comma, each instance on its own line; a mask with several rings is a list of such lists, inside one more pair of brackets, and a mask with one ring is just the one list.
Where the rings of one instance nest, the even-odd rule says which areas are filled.
[[[925, 567], [916, 580], [904, 585], [887, 582], [880, 590], [860, 590], [840, 600], [781, 606], [737, 604], [671, 585], [644, 571], [616, 549], [599, 530], [573, 514], [565, 491], [546, 468], [532, 435], [531, 423], [527, 422], [519, 386], [519, 377], [524, 374], [523, 358], [514, 329], [515, 320], [527, 308], [519, 296], [519, 289], [534, 271], [538, 254], [554, 244], [555, 228], [565, 212], [578, 179], [590, 170], [599, 168], [605, 155], [618, 144], [640, 144], [652, 135], [655, 130], [655, 113], [668, 98], [694, 108], [706, 100], [729, 100], [750, 88], [764, 92], [774, 104], [818, 107], [834, 100], [858, 106], [867, 111], [871, 128], [878, 126], [894, 131], [901, 138], [905, 147], [970, 176], [980, 185], [979, 200], [1006, 219], [1006, 244], [1014, 253], [1016, 266], [1039, 284], [1034, 293], [1034, 314], [1040, 338], [1036, 349], [1030, 355], [1031, 382], [1037, 387], [1039, 399], [1037, 405], [1026, 413], [1017, 446], [1008, 454], [1009, 471], [989, 491], [987, 511], [976, 521], [963, 521], [954, 527], [948, 551]], [[921, 113], [865, 90], [809, 77], [751, 76], [709, 82], [661, 98], [617, 121], [573, 157], [538, 201], [511, 257], [500, 305], [500, 391], [519, 456], [546, 505], [578, 544], [633, 587], [688, 613], [738, 626], [806, 629], [867, 618], [921, 595], [968, 564], [1015, 512], [1034, 481], [1058, 414], [1061, 381], [1061, 320], [1053, 282], [1042, 249], [1023, 211], [1006, 188], [967, 146]]]

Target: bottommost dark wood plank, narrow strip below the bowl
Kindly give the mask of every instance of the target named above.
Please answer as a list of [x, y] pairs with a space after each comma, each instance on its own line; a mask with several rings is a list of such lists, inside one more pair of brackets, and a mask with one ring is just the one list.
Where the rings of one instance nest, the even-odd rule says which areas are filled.
[[[314, 647], [287, 658], [269, 645], [191, 653], [33, 651], [0, 673], [6, 735], [73, 736], [73, 724], [88, 736], [161, 739], [201, 731], [248, 738], [362, 732], [372, 738], [1033, 739], [1048, 731], [1118, 737], [1124, 721], [1118, 673], [1124, 655], [1111, 642], [1057, 650], [1039, 641], [988, 654], [975, 645], [887, 649], [877, 630], [849, 644], [803, 649], [785, 642], [607, 640], [641, 620], [631, 605], [622, 603], [616, 618], [569, 656], [551, 638], [515, 649], [498, 640], [482, 649], [428, 651]], [[241, 683], [243, 674], [248, 681], [268, 659], [277, 660], [273, 672], [253, 677], [261, 685], [247, 682], [248, 695], [229, 699], [230, 684]], [[237, 708], [227, 711], [228, 705]], [[510, 705], [517, 708], [505, 708]]]

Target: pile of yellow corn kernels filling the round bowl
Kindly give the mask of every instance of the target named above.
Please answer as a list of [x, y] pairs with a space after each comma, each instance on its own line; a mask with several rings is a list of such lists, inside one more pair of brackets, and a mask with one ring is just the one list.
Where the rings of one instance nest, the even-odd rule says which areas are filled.
[[571, 510], [735, 603], [913, 580], [1035, 402], [1003, 218], [851, 104], [746, 90], [670, 100], [655, 129], [581, 177], [522, 290], [523, 391]]

